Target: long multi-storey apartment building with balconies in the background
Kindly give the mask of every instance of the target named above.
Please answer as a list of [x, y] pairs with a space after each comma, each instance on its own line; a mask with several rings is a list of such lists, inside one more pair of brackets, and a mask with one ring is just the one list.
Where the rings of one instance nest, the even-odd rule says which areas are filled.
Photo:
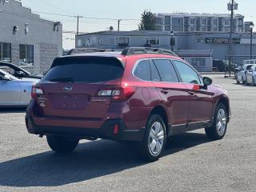
[[[230, 14], [155, 14], [156, 30], [174, 32], [229, 32]], [[234, 32], [244, 31], [244, 16], [234, 14]]]

